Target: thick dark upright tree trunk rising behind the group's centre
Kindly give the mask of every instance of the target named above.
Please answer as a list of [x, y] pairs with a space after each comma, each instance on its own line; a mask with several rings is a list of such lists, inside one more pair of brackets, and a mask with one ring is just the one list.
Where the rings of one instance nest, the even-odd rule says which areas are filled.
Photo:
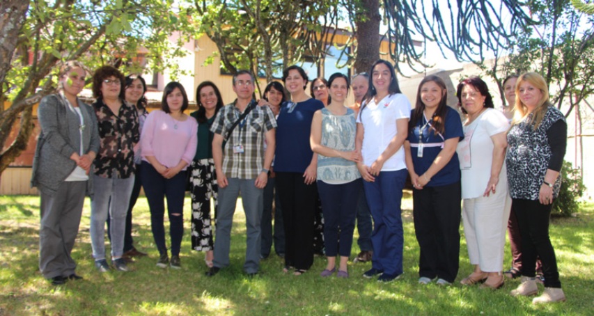
[[357, 56], [354, 68], [357, 73], [368, 72], [371, 65], [380, 59], [380, 1], [361, 0], [364, 13], [357, 16]]

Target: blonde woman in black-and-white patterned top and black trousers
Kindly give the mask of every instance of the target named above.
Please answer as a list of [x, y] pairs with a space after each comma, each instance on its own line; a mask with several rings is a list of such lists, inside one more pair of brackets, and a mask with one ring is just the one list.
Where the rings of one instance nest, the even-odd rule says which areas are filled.
[[506, 166], [512, 209], [522, 236], [522, 284], [513, 296], [530, 296], [536, 286], [536, 256], [545, 274], [545, 292], [532, 303], [565, 301], [555, 251], [549, 239], [549, 217], [561, 187], [561, 165], [567, 145], [565, 116], [549, 102], [547, 82], [528, 72], [517, 79]]

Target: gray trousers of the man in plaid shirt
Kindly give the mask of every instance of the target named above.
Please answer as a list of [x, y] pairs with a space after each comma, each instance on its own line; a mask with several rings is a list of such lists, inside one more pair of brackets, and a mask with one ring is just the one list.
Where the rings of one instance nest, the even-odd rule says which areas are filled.
[[242, 195], [247, 230], [244, 271], [248, 274], [260, 269], [260, 240], [262, 219], [263, 189], [256, 188], [256, 179], [227, 178], [228, 186], [219, 187], [219, 205], [217, 209], [217, 232], [214, 238], [214, 267], [229, 265], [231, 228], [237, 197]]

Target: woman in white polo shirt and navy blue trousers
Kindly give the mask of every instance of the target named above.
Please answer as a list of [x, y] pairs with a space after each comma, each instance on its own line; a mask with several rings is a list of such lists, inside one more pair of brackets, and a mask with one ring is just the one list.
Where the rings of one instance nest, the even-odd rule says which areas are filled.
[[370, 89], [357, 117], [357, 164], [374, 228], [373, 257], [366, 278], [389, 282], [402, 274], [402, 217], [400, 202], [407, 178], [405, 152], [410, 102], [402, 95], [393, 66], [379, 60], [371, 66]]

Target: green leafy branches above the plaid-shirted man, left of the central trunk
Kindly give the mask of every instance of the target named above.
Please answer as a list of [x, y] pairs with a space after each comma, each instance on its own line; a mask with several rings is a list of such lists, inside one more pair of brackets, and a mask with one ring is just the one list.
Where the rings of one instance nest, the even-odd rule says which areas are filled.
[[217, 45], [225, 72], [249, 69], [268, 80], [293, 63], [323, 58], [339, 19], [338, 0], [180, 2], [199, 25], [196, 35]]

